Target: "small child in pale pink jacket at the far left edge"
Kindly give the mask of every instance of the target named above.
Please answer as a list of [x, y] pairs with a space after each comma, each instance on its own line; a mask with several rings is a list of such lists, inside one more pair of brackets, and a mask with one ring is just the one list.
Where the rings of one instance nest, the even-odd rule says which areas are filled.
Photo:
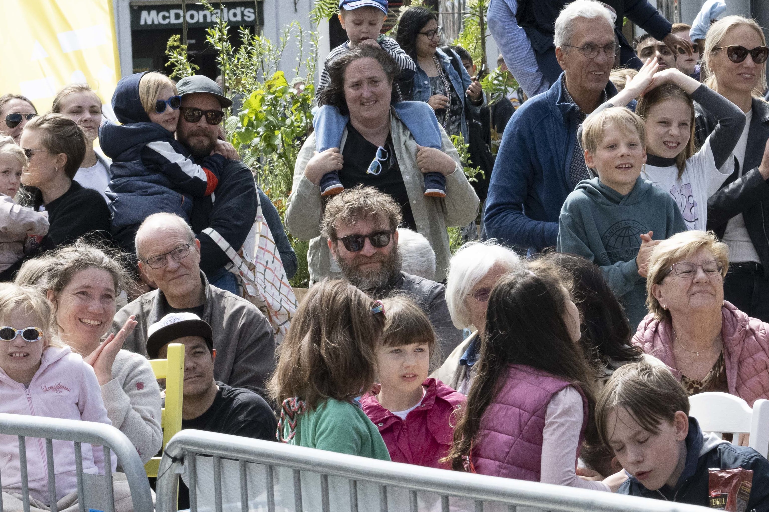
[[11, 137], [0, 137], [0, 282], [11, 281], [22, 265], [28, 237], [42, 238], [48, 233], [48, 213], [14, 200], [26, 167], [24, 150]]

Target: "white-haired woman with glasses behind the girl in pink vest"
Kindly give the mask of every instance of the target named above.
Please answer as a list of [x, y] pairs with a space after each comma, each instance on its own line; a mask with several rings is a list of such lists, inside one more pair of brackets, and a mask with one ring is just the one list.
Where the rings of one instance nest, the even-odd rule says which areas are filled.
[[470, 389], [473, 365], [478, 360], [478, 342], [486, 326], [486, 308], [491, 289], [507, 273], [521, 272], [525, 263], [518, 254], [495, 243], [470, 242], [451, 257], [446, 284], [446, 305], [457, 329], [474, 329], [454, 348], [441, 368], [432, 375], [464, 395]]

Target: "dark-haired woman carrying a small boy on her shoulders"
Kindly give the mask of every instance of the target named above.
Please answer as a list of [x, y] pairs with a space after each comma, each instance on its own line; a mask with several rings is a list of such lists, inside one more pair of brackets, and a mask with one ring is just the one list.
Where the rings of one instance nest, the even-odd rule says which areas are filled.
[[[297, 158], [294, 185], [288, 197], [285, 225], [298, 239], [310, 240], [308, 263], [311, 282], [341, 275], [331, 257], [327, 240], [321, 238], [325, 203], [321, 177], [337, 170], [345, 189], [358, 185], [387, 193], [401, 208], [403, 224], [428, 239], [435, 251], [435, 280], [444, 279], [451, 252], [447, 226], [466, 226], [478, 214], [478, 197], [462, 171], [446, 132], [441, 149], [421, 147], [391, 105], [397, 101], [393, 80], [400, 73], [387, 52], [358, 46], [327, 66], [331, 83], [318, 104], [337, 107], [350, 121], [341, 147], [318, 152], [311, 134]], [[446, 181], [445, 198], [424, 196], [424, 174], [441, 173]]]

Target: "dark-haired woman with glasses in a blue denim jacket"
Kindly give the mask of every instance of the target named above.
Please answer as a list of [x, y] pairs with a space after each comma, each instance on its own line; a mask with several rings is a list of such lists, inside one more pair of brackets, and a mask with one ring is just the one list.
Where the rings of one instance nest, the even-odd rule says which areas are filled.
[[462, 135], [469, 143], [466, 112], [478, 113], [484, 104], [483, 91], [454, 51], [438, 48], [442, 33], [437, 15], [424, 7], [413, 7], [398, 20], [395, 40], [417, 64], [412, 99], [432, 107], [449, 137]]

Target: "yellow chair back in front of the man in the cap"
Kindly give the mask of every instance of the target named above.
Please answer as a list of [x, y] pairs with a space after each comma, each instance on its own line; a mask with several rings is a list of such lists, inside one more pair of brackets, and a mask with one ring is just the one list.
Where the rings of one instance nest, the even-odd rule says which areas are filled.
[[[185, 385], [185, 345], [168, 345], [167, 359], [150, 359], [155, 378], [165, 378], [165, 407], [162, 409], [163, 449], [181, 430], [181, 400]], [[145, 464], [148, 477], [158, 476], [161, 457], [152, 457]]]

